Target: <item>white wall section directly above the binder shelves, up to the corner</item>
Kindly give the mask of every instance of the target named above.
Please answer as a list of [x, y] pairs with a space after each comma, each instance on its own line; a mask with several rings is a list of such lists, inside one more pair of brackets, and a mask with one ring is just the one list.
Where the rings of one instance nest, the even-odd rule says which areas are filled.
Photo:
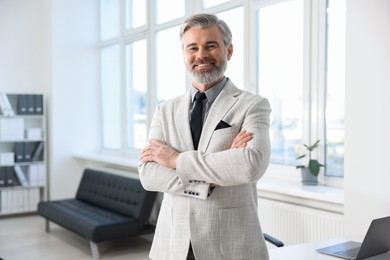
[[43, 1], [0, 0], [0, 91], [47, 94]]

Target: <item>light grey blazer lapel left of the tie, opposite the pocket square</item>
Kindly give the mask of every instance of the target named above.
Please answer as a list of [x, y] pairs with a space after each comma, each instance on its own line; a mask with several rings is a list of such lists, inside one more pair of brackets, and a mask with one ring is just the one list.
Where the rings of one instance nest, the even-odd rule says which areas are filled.
[[191, 104], [190, 91], [184, 94], [183, 98], [178, 99], [175, 105], [175, 125], [178, 128], [179, 138], [183, 144], [182, 151], [194, 150], [194, 144], [192, 143], [189, 109]]

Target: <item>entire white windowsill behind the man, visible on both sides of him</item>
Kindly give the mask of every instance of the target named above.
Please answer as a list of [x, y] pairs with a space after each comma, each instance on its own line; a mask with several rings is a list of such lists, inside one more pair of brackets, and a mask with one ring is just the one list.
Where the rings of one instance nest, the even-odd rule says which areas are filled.
[[[103, 163], [121, 168], [137, 169], [139, 161], [129, 156], [99, 152], [75, 153], [74, 157], [92, 163]], [[265, 175], [257, 184], [259, 198], [344, 214], [343, 188], [326, 185], [306, 186], [297, 180]]]

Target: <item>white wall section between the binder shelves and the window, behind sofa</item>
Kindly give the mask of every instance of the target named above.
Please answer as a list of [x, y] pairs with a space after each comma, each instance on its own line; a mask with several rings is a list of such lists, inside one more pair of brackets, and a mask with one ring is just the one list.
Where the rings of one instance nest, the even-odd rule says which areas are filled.
[[52, 199], [74, 196], [84, 165], [72, 154], [100, 144], [98, 2], [51, 2]]

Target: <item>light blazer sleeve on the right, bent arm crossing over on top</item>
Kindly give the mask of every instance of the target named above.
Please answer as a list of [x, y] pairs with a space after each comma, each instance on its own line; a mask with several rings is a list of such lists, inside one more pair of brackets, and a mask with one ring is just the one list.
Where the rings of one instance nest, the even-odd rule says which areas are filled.
[[186, 184], [196, 179], [218, 186], [241, 185], [259, 180], [268, 167], [271, 153], [270, 113], [266, 98], [259, 97], [249, 106], [241, 129], [251, 132], [253, 138], [245, 148], [215, 153], [181, 153], [176, 168], [180, 180]]

